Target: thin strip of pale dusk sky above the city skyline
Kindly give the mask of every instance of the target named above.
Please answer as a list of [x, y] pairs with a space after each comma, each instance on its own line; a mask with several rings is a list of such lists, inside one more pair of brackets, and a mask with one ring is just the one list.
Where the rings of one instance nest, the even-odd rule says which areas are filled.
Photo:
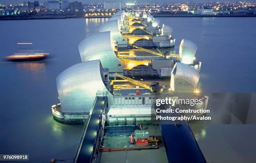
[[[18, 3], [22, 3], [24, 0], [0, 0], [1, 4], [18, 4]], [[26, 0], [26, 1], [34, 1], [34, 0]], [[46, 2], [47, 0], [39, 0], [40, 3]], [[83, 2], [83, 4], [86, 3], [98, 3], [98, 2], [134, 2], [134, 0], [70, 0], [70, 2], [72, 1], [79, 1], [79, 2]], [[239, 2], [239, 0], [136, 0], [136, 2], [156, 2], [156, 3], [178, 3], [178, 2]], [[256, 0], [243, 0], [246, 2], [256, 2]]]

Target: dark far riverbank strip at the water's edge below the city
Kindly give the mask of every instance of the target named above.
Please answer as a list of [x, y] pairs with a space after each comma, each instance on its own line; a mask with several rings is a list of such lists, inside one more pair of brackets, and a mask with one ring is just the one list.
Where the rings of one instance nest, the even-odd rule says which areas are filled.
[[[154, 17], [256, 17], [254, 15], [153, 15]], [[36, 17], [0, 17], [0, 20], [40, 20], [40, 19], [67, 19], [67, 18], [109, 18], [111, 16], [36, 16]]]

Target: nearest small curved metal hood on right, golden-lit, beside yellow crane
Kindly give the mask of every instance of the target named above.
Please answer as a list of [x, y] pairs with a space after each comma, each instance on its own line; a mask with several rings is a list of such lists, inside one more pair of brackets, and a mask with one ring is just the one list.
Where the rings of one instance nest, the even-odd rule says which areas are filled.
[[200, 74], [188, 64], [177, 62], [172, 69], [171, 89], [174, 93], [194, 93]]

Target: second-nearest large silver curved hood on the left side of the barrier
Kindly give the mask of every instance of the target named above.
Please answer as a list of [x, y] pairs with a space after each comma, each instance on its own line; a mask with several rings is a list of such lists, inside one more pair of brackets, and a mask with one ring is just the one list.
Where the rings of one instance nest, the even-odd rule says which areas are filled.
[[82, 62], [100, 59], [109, 72], [123, 72], [123, 64], [116, 56], [110, 32], [100, 32], [85, 38], [78, 45]]

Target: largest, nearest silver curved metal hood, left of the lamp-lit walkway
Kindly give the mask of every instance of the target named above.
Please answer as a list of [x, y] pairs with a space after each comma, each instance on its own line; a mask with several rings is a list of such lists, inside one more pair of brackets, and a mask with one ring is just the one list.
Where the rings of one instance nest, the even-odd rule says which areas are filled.
[[75, 64], [56, 79], [63, 113], [89, 113], [96, 94], [112, 96], [100, 74], [100, 60]]

